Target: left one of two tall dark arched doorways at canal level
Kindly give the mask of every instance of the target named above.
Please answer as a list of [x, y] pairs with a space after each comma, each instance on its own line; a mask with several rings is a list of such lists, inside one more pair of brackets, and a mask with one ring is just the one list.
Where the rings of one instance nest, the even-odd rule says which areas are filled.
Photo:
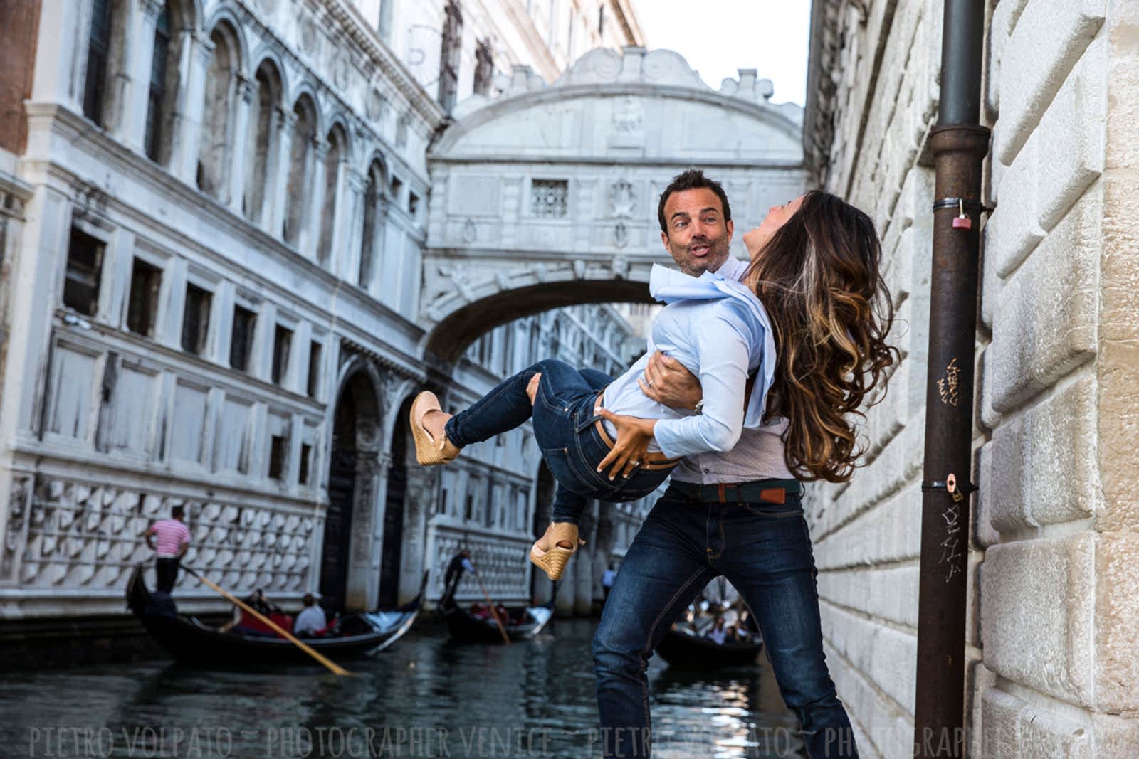
[[[367, 566], [371, 502], [379, 470], [379, 410], [368, 376], [357, 371], [344, 382], [333, 415], [328, 511], [320, 558], [321, 605], [330, 611], [366, 605], [353, 569]], [[359, 587], [358, 587], [359, 586]]]

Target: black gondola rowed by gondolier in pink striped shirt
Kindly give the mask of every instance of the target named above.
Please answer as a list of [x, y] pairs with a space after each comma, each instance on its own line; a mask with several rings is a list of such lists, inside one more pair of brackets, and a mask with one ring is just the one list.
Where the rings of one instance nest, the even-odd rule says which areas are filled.
[[[142, 563], [134, 567], [126, 583], [126, 607], [150, 636], [179, 661], [211, 665], [312, 661], [304, 651], [282, 637], [222, 633], [196, 617], [177, 613], [163, 594], [151, 595], [142, 569]], [[411, 602], [398, 609], [342, 617], [341, 635], [336, 637], [301, 640], [334, 661], [383, 651], [410, 629], [423, 605], [426, 585], [427, 574], [424, 572], [419, 595]]]

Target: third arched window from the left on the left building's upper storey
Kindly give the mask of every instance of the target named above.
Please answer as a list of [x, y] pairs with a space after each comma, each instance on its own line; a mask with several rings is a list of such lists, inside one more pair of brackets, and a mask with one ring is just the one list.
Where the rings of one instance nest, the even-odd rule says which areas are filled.
[[231, 40], [220, 26], [210, 35], [214, 50], [206, 69], [198, 150], [198, 189], [222, 203], [229, 203], [230, 131], [237, 97], [237, 46]]

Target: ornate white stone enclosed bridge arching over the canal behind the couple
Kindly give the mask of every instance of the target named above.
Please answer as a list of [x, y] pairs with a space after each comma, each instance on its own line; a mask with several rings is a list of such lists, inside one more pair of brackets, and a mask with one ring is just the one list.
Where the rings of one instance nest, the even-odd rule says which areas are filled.
[[721, 181], [740, 233], [806, 185], [802, 109], [741, 69], [708, 88], [678, 53], [593, 50], [547, 85], [515, 67], [503, 92], [460, 104], [428, 154], [424, 348], [454, 361], [514, 319], [646, 302], [669, 263], [656, 205], [677, 173]]

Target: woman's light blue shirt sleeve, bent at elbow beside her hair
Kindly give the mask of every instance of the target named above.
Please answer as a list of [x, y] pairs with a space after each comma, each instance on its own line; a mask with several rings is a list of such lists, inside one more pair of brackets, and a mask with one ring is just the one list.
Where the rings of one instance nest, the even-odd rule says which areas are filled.
[[734, 313], [723, 311], [694, 324], [691, 331], [704, 389], [704, 412], [656, 422], [653, 435], [670, 459], [731, 451], [744, 427], [748, 346], [754, 339], [751, 330]]

